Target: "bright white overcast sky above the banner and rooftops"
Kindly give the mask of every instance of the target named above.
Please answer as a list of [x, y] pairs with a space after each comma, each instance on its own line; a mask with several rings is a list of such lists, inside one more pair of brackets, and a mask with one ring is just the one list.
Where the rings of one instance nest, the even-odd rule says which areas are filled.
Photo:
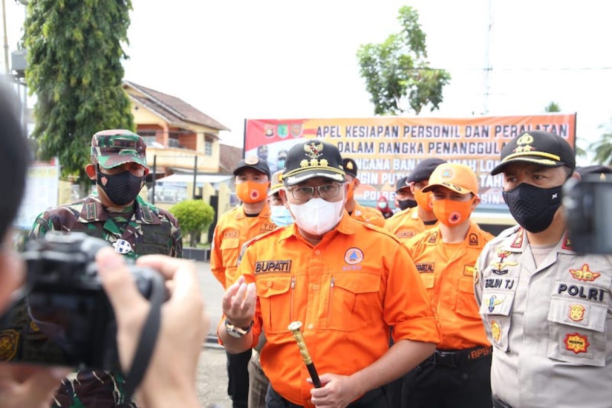
[[[419, 11], [431, 67], [452, 75], [439, 111], [424, 114], [537, 114], [554, 101], [578, 113], [587, 141], [612, 122], [610, 1], [133, 0], [125, 79], [230, 127], [222, 139], [234, 146], [245, 118], [370, 117], [356, 51], [398, 31], [405, 4]], [[23, 7], [7, 9], [13, 49]]]

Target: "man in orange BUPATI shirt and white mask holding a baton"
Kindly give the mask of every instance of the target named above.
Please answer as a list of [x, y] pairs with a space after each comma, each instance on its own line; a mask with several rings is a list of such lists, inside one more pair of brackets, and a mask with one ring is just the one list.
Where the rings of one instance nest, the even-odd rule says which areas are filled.
[[[261, 365], [274, 407], [387, 407], [383, 385], [422, 362], [439, 332], [414, 263], [391, 234], [349, 217], [340, 152], [318, 140], [289, 150], [280, 195], [295, 223], [248, 246], [223, 296], [217, 334], [242, 352], [264, 330]], [[289, 323], [302, 322], [313, 388]], [[389, 327], [395, 344], [389, 348]]]

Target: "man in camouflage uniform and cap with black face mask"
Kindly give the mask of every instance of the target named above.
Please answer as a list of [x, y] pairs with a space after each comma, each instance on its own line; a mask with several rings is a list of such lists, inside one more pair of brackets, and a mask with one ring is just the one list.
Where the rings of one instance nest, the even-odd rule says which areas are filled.
[[[181, 229], [170, 213], [144, 201], [138, 192], [149, 173], [146, 145], [128, 130], [103, 130], [91, 139], [85, 171], [97, 191], [84, 199], [43, 212], [30, 237], [48, 231], [78, 231], [111, 242], [115, 251], [136, 259], [145, 254], [181, 258]], [[133, 407], [125, 401], [121, 373], [79, 371], [64, 379], [56, 407]]]

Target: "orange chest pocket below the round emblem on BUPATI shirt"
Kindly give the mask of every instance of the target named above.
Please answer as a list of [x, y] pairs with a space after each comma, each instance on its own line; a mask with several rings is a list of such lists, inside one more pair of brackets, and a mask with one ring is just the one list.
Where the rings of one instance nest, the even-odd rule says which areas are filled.
[[371, 273], [338, 273], [330, 278], [326, 327], [352, 332], [381, 319], [381, 278]]

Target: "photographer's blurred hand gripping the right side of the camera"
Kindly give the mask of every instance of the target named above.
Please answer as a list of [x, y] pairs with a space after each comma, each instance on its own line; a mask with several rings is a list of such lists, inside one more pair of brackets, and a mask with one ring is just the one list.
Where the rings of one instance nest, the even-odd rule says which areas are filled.
[[[136, 289], [119, 254], [103, 248], [96, 262], [116, 314], [119, 359], [122, 367], [128, 369], [149, 313], [149, 303]], [[158, 270], [171, 288], [170, 300], [162, 306], [162, 326], [138, 395], [147, 407], [196, 407], [196, 366], [208, 321], [195, 266], [162, 255], [144, 256], [137, 263]]]

